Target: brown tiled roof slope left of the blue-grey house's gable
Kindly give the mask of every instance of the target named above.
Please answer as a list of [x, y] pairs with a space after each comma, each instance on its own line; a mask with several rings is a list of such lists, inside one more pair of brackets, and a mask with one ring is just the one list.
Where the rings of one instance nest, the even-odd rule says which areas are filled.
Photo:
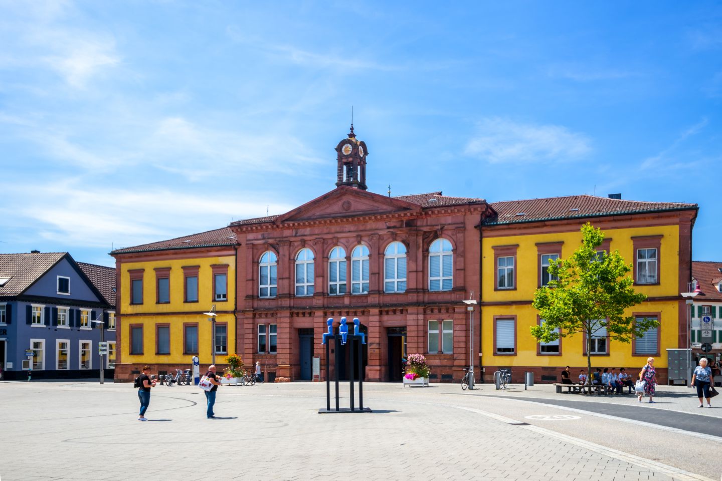
[[9, 278], [0, 287], [0, 296], [19, 295], [66, 254], [67, 252], [0, 254], [0, 279]]

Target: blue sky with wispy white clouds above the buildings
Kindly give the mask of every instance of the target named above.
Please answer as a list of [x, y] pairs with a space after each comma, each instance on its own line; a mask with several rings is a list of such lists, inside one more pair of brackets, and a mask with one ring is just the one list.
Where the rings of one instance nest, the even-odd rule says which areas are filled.
[[0, 252], [108, 252], [367, 185], [700, 206], [722, 261], [722, 4], [0, 0]]

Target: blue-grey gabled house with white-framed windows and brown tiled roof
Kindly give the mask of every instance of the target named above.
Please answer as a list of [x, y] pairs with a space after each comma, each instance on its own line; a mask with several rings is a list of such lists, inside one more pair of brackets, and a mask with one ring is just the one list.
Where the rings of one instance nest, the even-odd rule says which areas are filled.
[[[0, 363], [3, 379], [98, 376], [98, 343], [116, 352], [116, 272], [67, 252], [0, 254]], [[93, 321], [103, 321], [99, 324]], [[32, 356], [27, 352], [32, 350]]]

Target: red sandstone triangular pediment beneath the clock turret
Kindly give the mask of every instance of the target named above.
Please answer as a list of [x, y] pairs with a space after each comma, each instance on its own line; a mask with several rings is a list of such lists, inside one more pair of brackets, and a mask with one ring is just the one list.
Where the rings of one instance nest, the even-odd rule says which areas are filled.
[[416, 204], [342, 186], [279, 216], [274, 222], [316, 221], [420, 211]]

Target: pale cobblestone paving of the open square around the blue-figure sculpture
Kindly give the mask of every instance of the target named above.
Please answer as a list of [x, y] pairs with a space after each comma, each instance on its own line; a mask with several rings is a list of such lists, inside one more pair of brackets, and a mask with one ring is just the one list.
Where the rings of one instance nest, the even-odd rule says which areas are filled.
[[372, 414], [319, 415], [323, 387], [222, 387], [216, 420], [200, 389], [158, 387], [141, 423], [129, 384], [0, 383], [0, 479], [705, 479], [475, 412], [450, 386], [366, 384]]

